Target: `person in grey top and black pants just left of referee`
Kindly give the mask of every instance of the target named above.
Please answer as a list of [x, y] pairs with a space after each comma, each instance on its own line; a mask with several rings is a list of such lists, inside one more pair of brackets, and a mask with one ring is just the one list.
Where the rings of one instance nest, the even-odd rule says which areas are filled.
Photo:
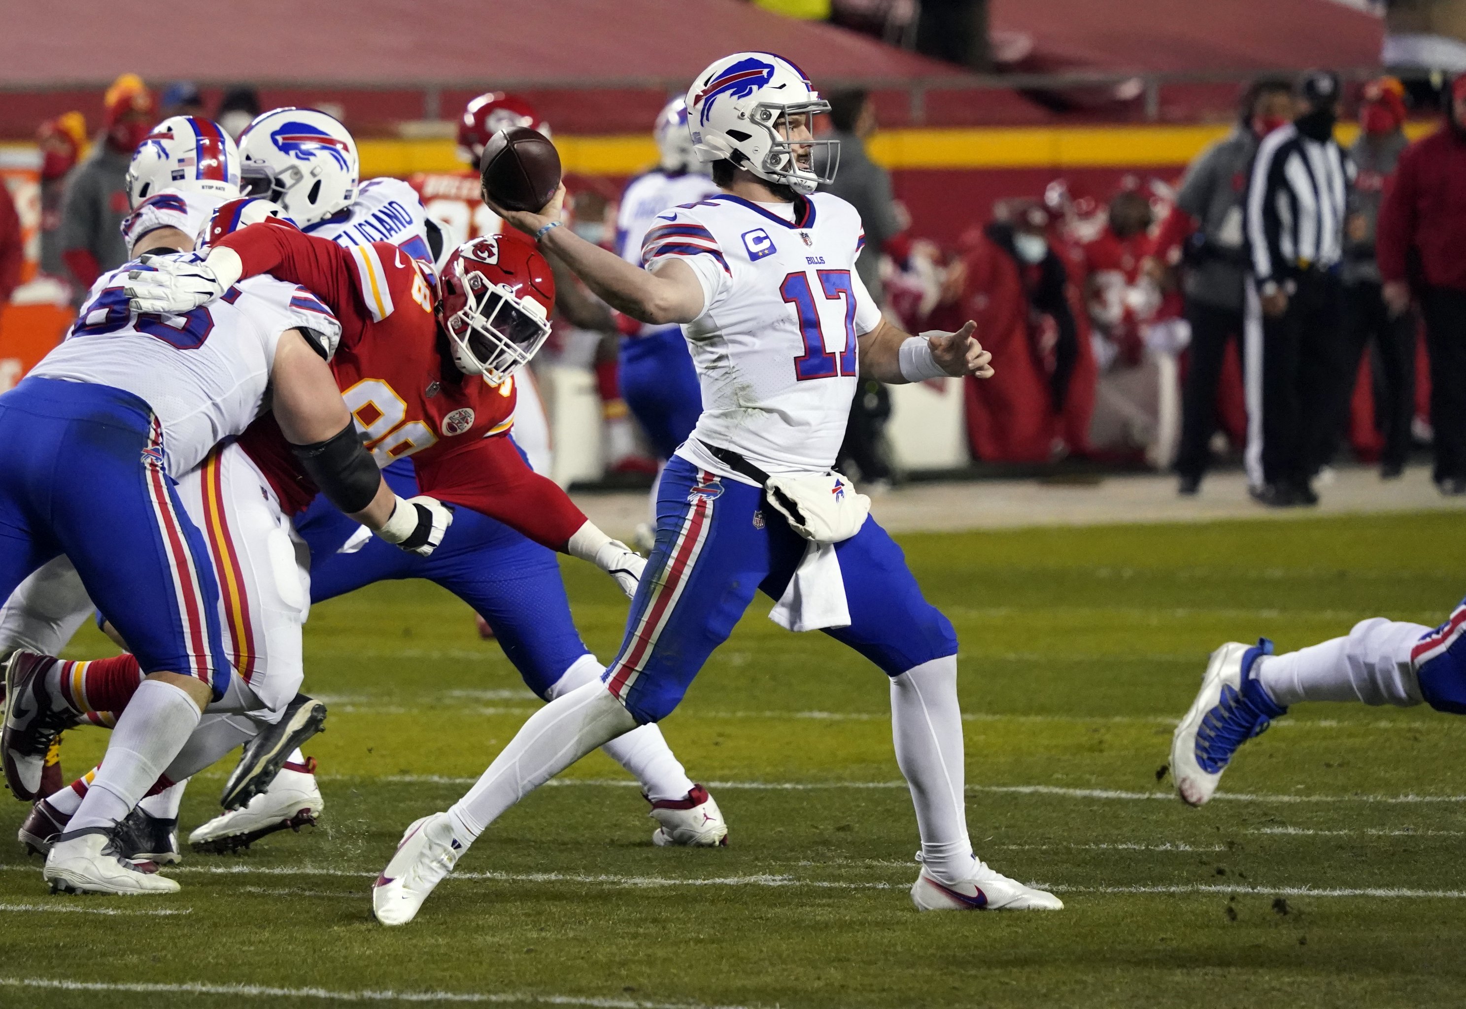
[[[1195, 494], [1211, 465], [1217, 390], [1230, 340], [1242, 337], [1246, 248], [1243, 194], [1258, 142], [1292, 117], [1292, 85], [1258, 78], [1242, 95], [1239, 122], [1186, 169], [1176, 205], [1161, 223], [1157, 248], [1182, 245], [1182, 289], [1190, 323], [1182, 439], [1176, 455], [1180, 493]], [[1240, 349], [1240, 343], [1239, 343]]]

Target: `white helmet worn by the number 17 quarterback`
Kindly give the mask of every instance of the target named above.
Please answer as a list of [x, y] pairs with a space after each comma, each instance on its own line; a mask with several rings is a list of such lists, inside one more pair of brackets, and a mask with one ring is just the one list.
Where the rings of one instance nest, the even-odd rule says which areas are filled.
[[[688, 128], [692, 150], [702, 161], [727, 158], [759, 179], [811, 194], [833, 182], [840, 163], [840, 141], [793, 138], [790, 116], [805, 116], [814, 133], [814, 116], [830, 111], [803, 70], [773, 53], [724, 56], [692, 81], [688, 89]], [[798, 151], [795, 148], [799, 148]], [[814, 157], [815, 148], [824, 148]], [[815, 170], [815, 166], [822, 170]]]

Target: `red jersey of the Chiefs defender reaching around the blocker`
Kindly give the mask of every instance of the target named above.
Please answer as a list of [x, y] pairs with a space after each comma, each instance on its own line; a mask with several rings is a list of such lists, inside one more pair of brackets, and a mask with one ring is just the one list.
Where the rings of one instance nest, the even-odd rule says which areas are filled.
[[[554, 548], [585, 522], [564, 491], [498, 437], [513, 419], [515, 381], [491, 386], [457, 370], [438, 336], [432, 287], [412, 257], [387, 242], [343, 248], [270, 224], [245, 227], [220, 245], [239, 254], [246, 277], [298, 277], [340, 321], [331, 371], [377, 465], [410, 456], [422, 493]], [[315, 497], [273, 418], [258, 421], [240, 446], [287, 513]]]

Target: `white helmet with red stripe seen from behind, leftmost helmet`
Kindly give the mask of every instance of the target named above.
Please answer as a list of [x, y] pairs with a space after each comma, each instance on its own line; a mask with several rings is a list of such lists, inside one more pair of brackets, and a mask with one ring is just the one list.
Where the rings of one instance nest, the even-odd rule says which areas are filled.
[[132, 153], [126, 185], [133, 210], [163, 189], [233, 199], [239, 195], [239, 148], [216, 122], [170, 116]]

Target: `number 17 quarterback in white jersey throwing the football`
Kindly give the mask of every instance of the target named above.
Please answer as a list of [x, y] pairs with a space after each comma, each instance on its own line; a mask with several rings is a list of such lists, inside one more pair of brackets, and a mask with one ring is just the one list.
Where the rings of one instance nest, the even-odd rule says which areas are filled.
[[680, 701], [756, 588], [790, 629], [824, 629], [890, 676], [896, 758], [910, 783], [922, 867], [921, 909], [1058, 909], [972, 851], [963, 796], [957, 639], [921, 595], [900, 548], [868, 519], [869, 502], [830, 471], [856, 370], [881, 381], [990, 377], [969, 321], [909, 336], [861, 285], [861, 221], [830, 194], [811, 116], [827, 111], [805, 75], [768, 53], [737, 53], [688, 91], [698, 157], [721, 192], [658, 219], [647, 268], [539, 213], [496, 208], [633, 318], [680, 323], [704, 412], [661, 478], [657, 546], [604, 682], [537, 711], [447, 812], [408, 827], [372, 890], [383, 924], [416, 915], [469, 845], [526, 792], [592, 748], [657, 722]]

